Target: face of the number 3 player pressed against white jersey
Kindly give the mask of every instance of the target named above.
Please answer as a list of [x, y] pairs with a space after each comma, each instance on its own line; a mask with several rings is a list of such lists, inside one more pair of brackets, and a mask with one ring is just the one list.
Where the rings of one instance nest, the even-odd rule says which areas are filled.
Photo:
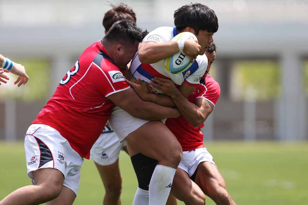
[[127, 46], [122, 48], [120, 53], [120, 58], [117, 61], [118, 67], [120, 70], [126, 68], [127, 64], [133, 59], [136, 52], [138, 51], [139, 42], [136, 41], [133, 46]]

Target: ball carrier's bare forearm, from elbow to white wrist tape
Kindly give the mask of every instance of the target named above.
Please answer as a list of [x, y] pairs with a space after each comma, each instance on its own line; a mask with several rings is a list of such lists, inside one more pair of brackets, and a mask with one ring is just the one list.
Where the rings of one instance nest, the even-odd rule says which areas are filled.
[[140, 46], [138, 57], [141, 63], [151, 64], [168, 58], [179, 51], [177, 41], [166, 43], [148, 42]]

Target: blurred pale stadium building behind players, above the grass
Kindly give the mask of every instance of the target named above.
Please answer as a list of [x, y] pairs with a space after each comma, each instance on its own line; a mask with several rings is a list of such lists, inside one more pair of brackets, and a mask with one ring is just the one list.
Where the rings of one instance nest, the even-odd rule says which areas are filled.
[[[174, 26], [174, 10], [190, 3], [123, 2], [148, 31]], [[221, 96], [202, 130], [205, 140], [307, 140], [308, 1], [197, 2], [219, 21], [210, 73]], [[24, 65], [30, 77], [20, 88], [14, 75], [1, 85], [0, 139], [23, 140], [79, 55], [104, 36], [109, 9], [99, 0], [0, 0], [0, 53]]]

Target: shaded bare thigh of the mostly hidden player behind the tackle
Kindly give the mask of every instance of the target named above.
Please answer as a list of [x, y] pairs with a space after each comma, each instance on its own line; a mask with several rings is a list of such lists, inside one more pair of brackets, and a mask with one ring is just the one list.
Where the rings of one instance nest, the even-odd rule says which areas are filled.
[[119, 159], [116, 160], [113, 164], [103, 166], [97, 164], [95, 165], [99, 171], [99, 175], [102, 178], [105, 188], [107, 187], [122, 187], [122, 176], [119, 168]]

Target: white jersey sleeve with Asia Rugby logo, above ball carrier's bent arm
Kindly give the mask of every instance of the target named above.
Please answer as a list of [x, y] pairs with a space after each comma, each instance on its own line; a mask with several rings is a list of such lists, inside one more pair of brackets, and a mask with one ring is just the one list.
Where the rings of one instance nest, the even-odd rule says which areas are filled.
[[142, 43], [154, 42], [154, 43], [165, 43], [170, 42], [173, 38], [172, 27], [159, 27], [152, 32], [150, 32], [146, 37], [144, 37]]

